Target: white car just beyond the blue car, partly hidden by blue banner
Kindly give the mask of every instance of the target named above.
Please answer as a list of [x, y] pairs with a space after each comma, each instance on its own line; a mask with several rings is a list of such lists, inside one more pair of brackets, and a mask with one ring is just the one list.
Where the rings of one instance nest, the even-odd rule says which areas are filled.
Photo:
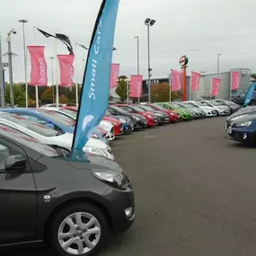
[[[66, 117], [70, 119], [76, 120], [76, 112], [73, 110], [66, 110], [66, 109], [59, 109], [59, 108], [47, 108], [48, 110], [54, 110], [61, 114], [66, 115]], [[114, 130], [114, 124], [110, 121], [102, 120], [99, 124], [100, 128], [103, 128], [107, 132], [107, 138], [108, 140], [115, 139], [115, 130]]]

